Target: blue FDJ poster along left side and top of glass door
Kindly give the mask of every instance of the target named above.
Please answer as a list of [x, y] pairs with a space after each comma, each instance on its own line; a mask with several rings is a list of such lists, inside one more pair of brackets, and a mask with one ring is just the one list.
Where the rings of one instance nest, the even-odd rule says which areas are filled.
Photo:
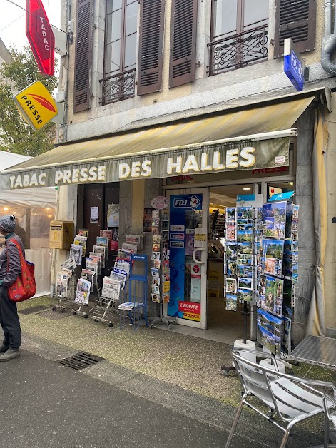
[[[170, 196], [170, 301], [168, 315], [183, 318], [178, 302], [185, 300], [185, 212], [202, 210], [202, 195]], [[188, 299], [190, 300], [190, 298]]]

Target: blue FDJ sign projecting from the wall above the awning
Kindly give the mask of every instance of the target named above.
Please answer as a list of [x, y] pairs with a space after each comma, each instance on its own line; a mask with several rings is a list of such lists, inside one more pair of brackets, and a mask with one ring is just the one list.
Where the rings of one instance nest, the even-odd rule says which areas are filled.
[[285, 39], [283, 53], [283, 71], [297, 91], [303, 90], [305, 63], [295, 49], [292, 39]]

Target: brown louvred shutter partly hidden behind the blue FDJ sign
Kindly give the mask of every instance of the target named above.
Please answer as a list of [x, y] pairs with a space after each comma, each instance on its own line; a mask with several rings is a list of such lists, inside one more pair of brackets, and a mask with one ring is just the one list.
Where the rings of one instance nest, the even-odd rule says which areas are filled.
[[275, 58], [289, 37], [300, 53], [315, 50], [316, 0], [275, 0]]

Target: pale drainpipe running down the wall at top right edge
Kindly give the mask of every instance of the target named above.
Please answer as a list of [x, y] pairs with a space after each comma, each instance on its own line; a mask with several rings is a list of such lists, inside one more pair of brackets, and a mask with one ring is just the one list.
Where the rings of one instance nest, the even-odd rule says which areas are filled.
[[[336, 74], [336, 64], [332, 63], [331, 57], [336, 50], [336, 34], [335, 29], [332, 34], [331, 24], [332, 24], [332, 2], [330, 0], [325, 0], [325, 36], [322, 41], [322, 56], [321, 65], [324, 71], [327, 73]], [[336, 20], [336, 8], [335, 8], [335, 20]], [[334, 27], [335, 27], [334, 21]]]

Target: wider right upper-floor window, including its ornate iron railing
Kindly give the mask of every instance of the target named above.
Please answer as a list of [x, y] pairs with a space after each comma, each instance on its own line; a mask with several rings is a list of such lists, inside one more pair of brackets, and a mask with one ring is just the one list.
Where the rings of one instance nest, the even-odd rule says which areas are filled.
[[268, 58], [268, 0], [212, 0], [209, 74]]

